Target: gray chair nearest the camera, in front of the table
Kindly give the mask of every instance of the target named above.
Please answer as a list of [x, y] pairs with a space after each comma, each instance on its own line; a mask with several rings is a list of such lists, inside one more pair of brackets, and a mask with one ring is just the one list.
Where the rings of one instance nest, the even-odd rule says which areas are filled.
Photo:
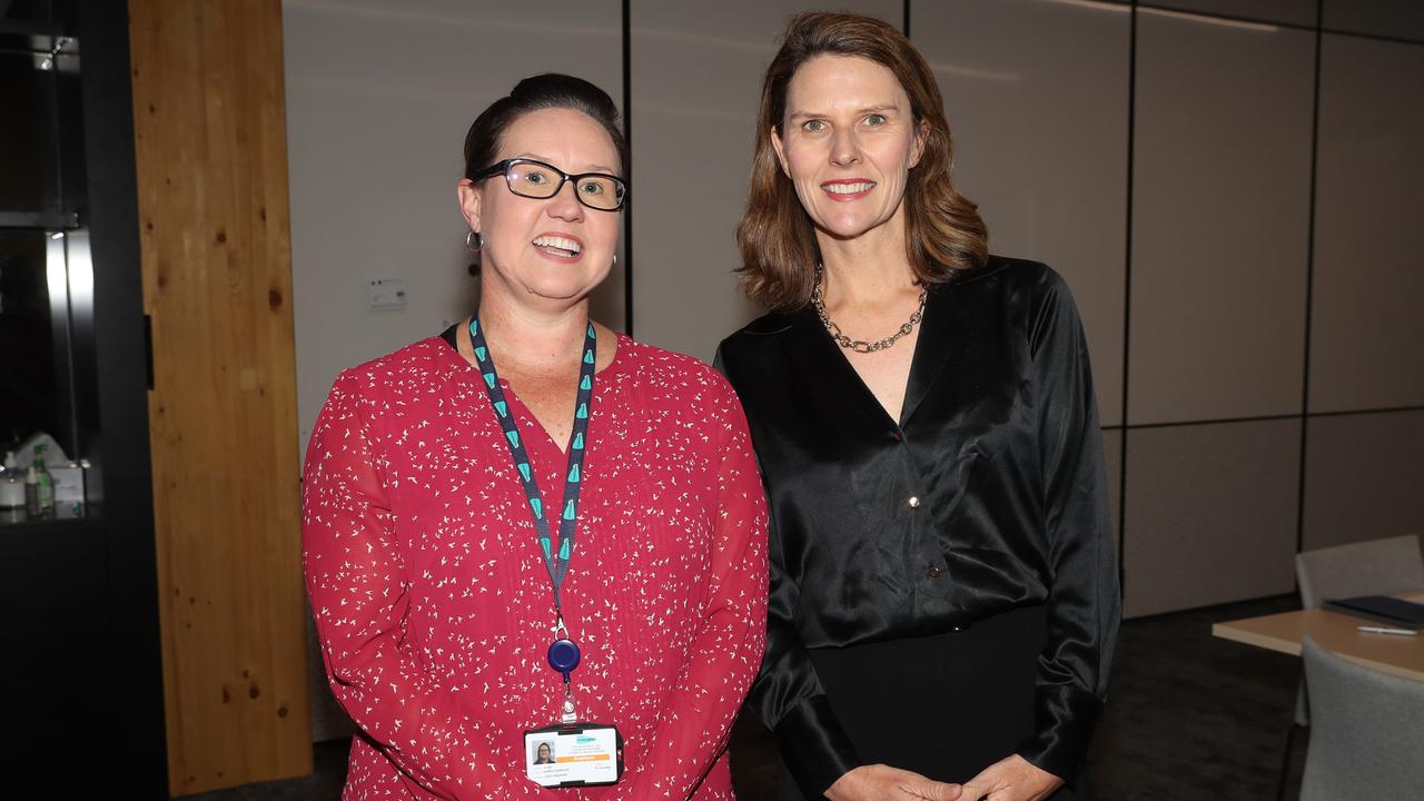
[[1313, 720], [1300, 801], [1420, 798], [1424, 681], [1346, 661], [1310, 637], [1302, 651]]

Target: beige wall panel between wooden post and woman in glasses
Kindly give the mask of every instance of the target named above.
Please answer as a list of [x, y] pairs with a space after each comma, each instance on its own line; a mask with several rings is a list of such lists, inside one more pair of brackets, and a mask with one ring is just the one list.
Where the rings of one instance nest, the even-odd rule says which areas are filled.
[[[464, 134], [524, 77], [622, 105], [617, 0], [285, 0], [300, 443], [343, 368], [439, 334], [476, 298], [456, 204]], [[619, 259], [622, 261], [622, 259]], [[367, 282], [406, 282], [372, 309]], [[622, 268], [594, 316], [624, 328]]]

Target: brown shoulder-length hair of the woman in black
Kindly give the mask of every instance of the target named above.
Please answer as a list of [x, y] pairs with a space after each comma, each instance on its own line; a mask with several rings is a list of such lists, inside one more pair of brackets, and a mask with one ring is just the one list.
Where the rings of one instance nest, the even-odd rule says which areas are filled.
[[857, 14], [812, 11], [792, 19], [780, 51], [766, 68], [756, 154], [746, 214], [736, 227], [742, 249], [742, 289], [753, 301], [795, 311], [810, 302], [820, 248], [790, 178], [772, 147], [772, 130], [786, 117], [786, 87], [816, 56], [859, 56], [884, 66], [910, 95], [917, 127], [927, 130], [924, 154], [904, 191], [906, 252], [921, 284], [943, 284], [988, 258], [988, 231], [978, 207], [954, 191], [954, 147], [944, 101], [924, 57], [897, 29]]

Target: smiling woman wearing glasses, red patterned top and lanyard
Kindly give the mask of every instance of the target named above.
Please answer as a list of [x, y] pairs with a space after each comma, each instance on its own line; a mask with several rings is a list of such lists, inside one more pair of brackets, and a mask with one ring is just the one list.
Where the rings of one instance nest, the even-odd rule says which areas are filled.
[[[567, 76], [476, 120], [477, 312], [343, 372], [316, 422], [302, 542], [359, 728], [345, 798], [732, 798], [766, 502], [728, 383], [588, 318], [627, 197], [615, 120]], [[577, 643], [568, 678], [554, 640]], [[617, 784], [530, 778], [524, 733], [564, 713], [618, 728]]]

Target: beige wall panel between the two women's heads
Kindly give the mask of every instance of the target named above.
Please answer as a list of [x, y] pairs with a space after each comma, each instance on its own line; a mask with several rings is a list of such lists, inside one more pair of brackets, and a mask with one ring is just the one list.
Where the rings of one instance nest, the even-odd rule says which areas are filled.
[[[634, 0], [634, 335], [712, 359], [760, 315], [736, 289], [735, 229], [746, 207], [762, 74], [803, 0]], [[899, 26], [903, 3], [836, 9]]]

